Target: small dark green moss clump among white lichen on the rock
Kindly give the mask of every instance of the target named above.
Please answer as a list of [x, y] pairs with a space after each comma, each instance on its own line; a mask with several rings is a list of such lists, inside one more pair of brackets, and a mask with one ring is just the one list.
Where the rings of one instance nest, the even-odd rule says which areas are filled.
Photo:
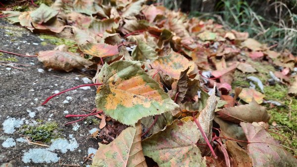
[[58, 124], [56, 122], [47, 122], [39, 126], [22, 127], [23, 134], [30, 136], [32, 141], [50, 142], [51, 139], [59, 137]]

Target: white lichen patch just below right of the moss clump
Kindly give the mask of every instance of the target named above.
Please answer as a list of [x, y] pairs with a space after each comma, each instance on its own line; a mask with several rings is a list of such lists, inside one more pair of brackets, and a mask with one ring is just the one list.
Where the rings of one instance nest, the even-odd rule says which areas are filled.
[[66, 153], [68, 150], [74, 151], [79, 145], [73, 135], [69, 135], [69, 138], [69, 141], [61, 138], [51, 140], [52, 144], [49, 146], [48, 150], [60, 150], [62, 153]]

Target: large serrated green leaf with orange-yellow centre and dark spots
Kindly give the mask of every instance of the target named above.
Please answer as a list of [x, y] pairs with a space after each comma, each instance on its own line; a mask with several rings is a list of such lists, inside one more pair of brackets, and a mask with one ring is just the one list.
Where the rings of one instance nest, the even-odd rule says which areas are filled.
[[96, 105], [113, 119], [134, 125], [139, 119], [178, 107], [139, 61], [119, 60], [104, 64], [97, 82]]

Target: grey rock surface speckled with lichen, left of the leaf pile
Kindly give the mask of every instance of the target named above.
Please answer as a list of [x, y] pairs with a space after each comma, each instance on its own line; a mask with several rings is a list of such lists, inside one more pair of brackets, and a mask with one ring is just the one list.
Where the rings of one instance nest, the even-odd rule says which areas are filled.
[[[42, 40], [38, 34], [33, 34], [25, 28], [0, 20], [0, 50], [35, 55], [39, 51], [51, 50], [55, 47], [53, 45], [42, 46]], [[82, 78], [88, 76], [78, 71], [67, 73], [46, 69], [36, 57], [19, 57], [10, 54], [3, 54], [0, 57], [15, 57], [17, 61], [14, 63], [31, 65], [19, 66], [25, 69], [15, 69], [1, 65], [5, 63], [0, 64], [0, 167], [58, 167], [62, 164], [84, 167], [90, 165], [90, 162], [82, 165], [85, 160], [83, 158], [88, 155], [89, 148], [98, 149], [98, 141], [91, 138], [89, 132], [89, 130], [98, 127], [98, 124], [80, 121], [77, 124], [64, 126], [66, 122], [78, 119], [65, 118], [64, 116], [67, 111], [69, 114], [86, 114], [87, 112], [81, 109], [91, 110], [95, 108], [95, 87], [67, 92], [53, 98], [46, 106], [41, 106], [41, 103], [54, 91], [62, 91], [84, 84]], [[6, 123], [4, 123], [5, 120]], [[19, 120], [19, 122], [11, 120]], [[20, 125], [20, 122], [23, 124]], [[66, 139], [70, 144], [71, 141], [77, 141], [78, 147], [77, 145], [72, 145], [72, 148], [69, 146], [70, 150], [66, 150], [66, 153], [65, 150], [57, 149], [49, 152], [45, 151], [47, 147], [16, 140], [20, 137], [26, 139], [26, 136], [21, 132], [24, 125], [36, 127], [46, 122], [58, 123], [59, 129], [62, 129], [58, 132], [60, 133], [59, 137]], [[15, 131], [7, 133], [7, 129], [5, 129], [7, 126], [10, 130], [14, 131], [13, 129], [15, 129]], [[8, 138], [13, 140], [10, 147], [7, 147]], [[51, 143], [46, 144], [51, 145]], [[63, 144], [59, 146], [64, 147]], [[42, 156], [44, 157], [32, 154], [33, 152], [30, 152], [30, 149], [43, 149], [45, 154]], [[28, 162], [28, 157], [26, 161], [24, 155], [39, 157], [41, 162], [49, 161], [47, 158], [54, 155], [58, 157], [59, 161], [56, 163], [50, 161], [49, 163], [33, 163], [33, 160], [29, 160], [29, 163], [25, 163]]]

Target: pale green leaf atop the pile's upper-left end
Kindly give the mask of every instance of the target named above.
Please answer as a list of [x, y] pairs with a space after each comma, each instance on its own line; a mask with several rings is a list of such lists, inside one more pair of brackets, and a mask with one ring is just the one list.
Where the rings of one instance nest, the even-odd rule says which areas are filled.
[[30, 13], [32, 21], [36, 24], [46, 23], [55, 17], [59, 12], [51, 7], [41, 4], [38, 9]]

